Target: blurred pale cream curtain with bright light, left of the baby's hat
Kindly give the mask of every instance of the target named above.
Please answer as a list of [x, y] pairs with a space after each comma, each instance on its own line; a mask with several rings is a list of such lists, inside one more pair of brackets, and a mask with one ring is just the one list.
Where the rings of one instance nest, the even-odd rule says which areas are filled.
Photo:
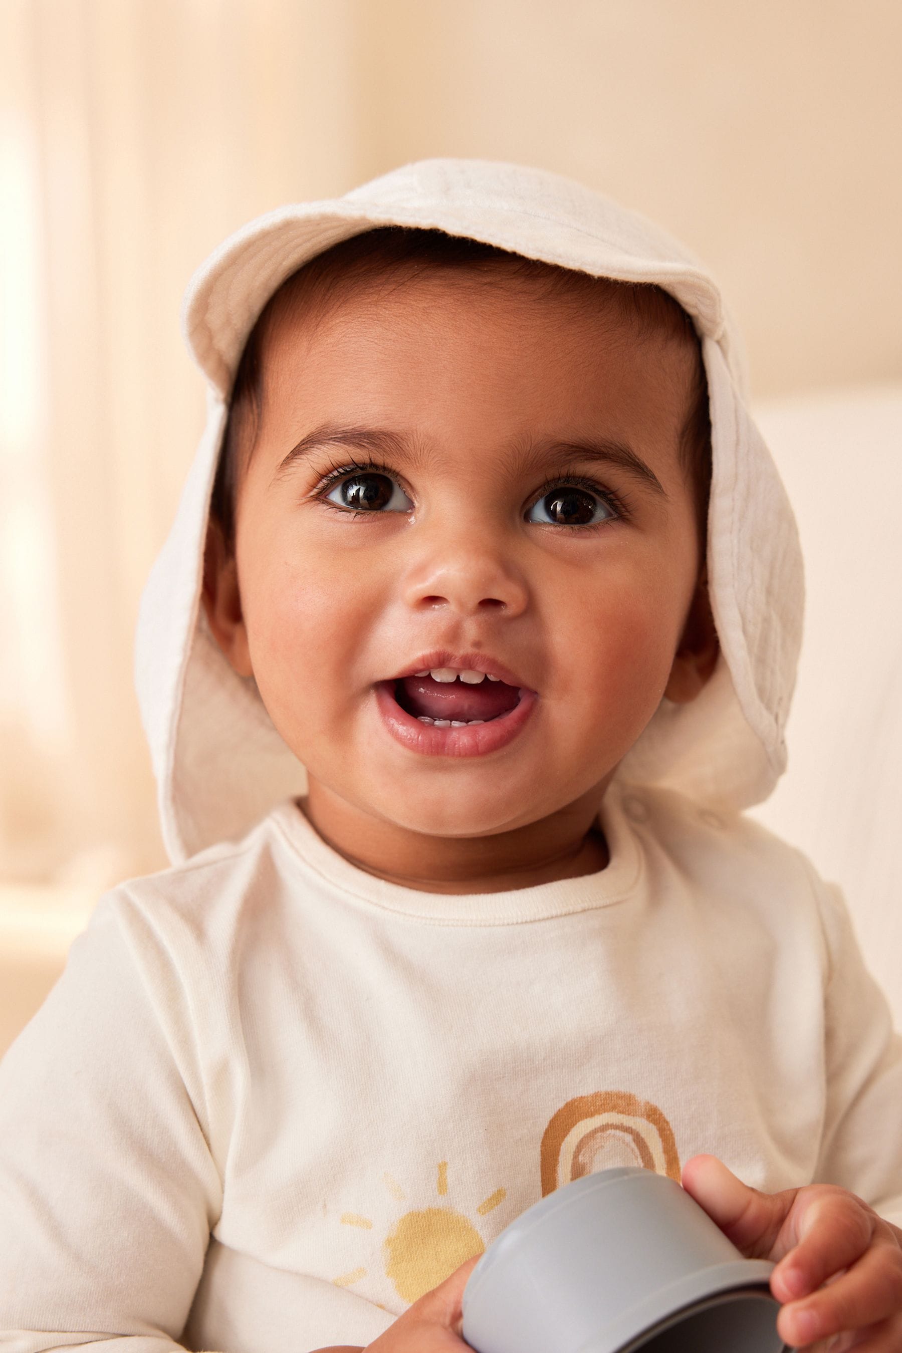
[[352, 183], [342, 0], [0, 4], [0, 878], [162, 863], [138, 598], [201, 422], [181, 291]]

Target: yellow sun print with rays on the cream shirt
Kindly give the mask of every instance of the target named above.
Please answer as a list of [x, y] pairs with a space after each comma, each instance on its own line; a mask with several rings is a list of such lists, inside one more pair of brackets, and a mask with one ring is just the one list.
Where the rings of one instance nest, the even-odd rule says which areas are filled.
[[[402, 1200], [404, 1191], [389, 1176], [383, 1180], [394, 1199]], [[448, 1161], [438, 1162], [435, 1178], [438, 1197], [448, 1196]], [[480, 1216], [485, 1216], [503, 1203], [507, 1192], [496, 1188], [494, 1193], [477, 1206]], [[343, 1226], [372, 1230], [372, 1220], [357, 1212], [342, 1212]], [[454, 1269], [460, 1268], [473, 1254], [483, 1254], [485, 1245], [473, 1223], [448, 1204], [417, 1208], [404, 1212], [389, 1230], [383, 1243], [385, 1276], [391, 1279], [395, 1291], [404, 1302], [415, 1302], [444, 1283]], [[350, 1287], [366, 1277], [365, 1268], [352, 1269], [333, 1279], [337, 1287]]]

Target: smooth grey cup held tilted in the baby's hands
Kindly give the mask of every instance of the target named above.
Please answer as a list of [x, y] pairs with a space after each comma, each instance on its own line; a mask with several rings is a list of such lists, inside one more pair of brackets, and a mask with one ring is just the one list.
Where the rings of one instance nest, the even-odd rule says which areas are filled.
[[490, 1245], [464, 1289], [464, 1339], [477, 1353], [780, 1353], [772, 1268], [673, 1180], [600, 1170]]

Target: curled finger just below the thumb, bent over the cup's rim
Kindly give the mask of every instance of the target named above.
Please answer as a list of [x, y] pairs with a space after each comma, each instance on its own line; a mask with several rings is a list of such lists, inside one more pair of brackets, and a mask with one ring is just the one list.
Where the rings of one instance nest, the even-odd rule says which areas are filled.
[[834, 1273], [851, 1268], [883, 1224], [865, 1203], [829, 1187], [817, 1193], [799, 1191], [794, 1212], [798, 1243], [771, 1275], [771, 1291], [780, 1302], [807, 1296]]

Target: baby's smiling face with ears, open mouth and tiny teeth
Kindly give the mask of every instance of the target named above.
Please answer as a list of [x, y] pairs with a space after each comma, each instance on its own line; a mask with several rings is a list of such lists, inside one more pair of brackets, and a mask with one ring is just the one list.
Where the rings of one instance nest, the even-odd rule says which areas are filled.
[[441, 272], [276, 325], [239, 602], [220, 586], [211, 620], [311, 778], [440, 836], [600, 798], [703, 679], [692, 360], [611, 308]]

